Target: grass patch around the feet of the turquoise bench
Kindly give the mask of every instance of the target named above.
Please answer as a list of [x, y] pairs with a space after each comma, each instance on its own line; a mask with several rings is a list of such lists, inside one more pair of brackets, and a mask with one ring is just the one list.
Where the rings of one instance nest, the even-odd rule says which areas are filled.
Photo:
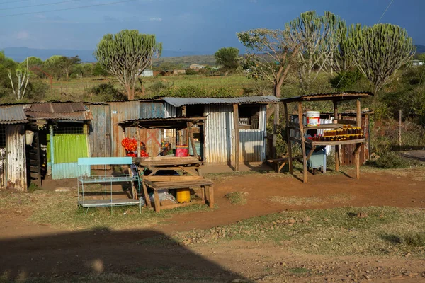
[[[88, 191], [94, 188], [87, 188]], [[97, 207], [89, 209], [86, 216], [77, 206], [76, 192], [52, 192], [35, 190], [35, 192], [0, 192], [0, 209], [6, 212], [32, 212], [30, 221], [38, 224], [51, 224], [62, 229], [94, 229], [108, 227], [111, 229], [141, 229], [161, 224], [178, 213], [210, 211], [205, 204], [193, 204], [176, 209], [164, 209], [159, 213], [139, 207]]]

